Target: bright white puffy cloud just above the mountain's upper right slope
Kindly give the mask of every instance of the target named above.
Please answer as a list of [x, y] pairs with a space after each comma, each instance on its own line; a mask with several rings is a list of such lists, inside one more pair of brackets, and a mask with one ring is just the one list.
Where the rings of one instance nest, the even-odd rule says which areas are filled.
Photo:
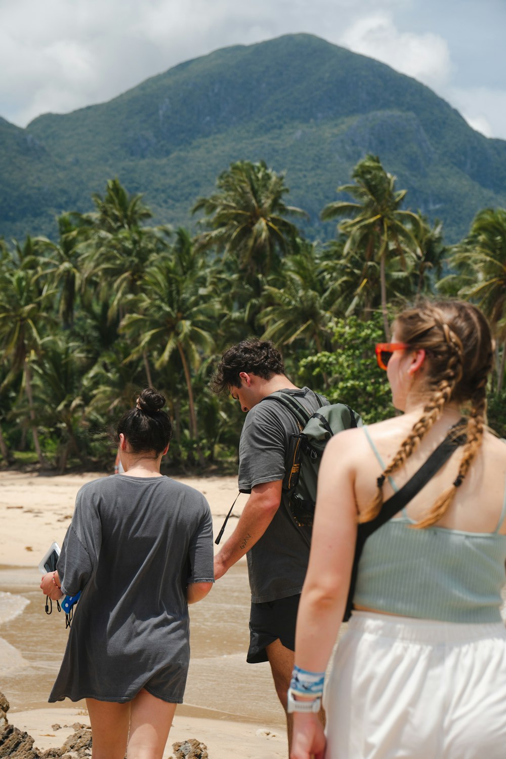
[[438, 34], [401, 32], [389, 14], [360, 18], [338, 37], [344, 47], [387, 63], [396, 71], [441, 87], [451, 76], [448, 43]]

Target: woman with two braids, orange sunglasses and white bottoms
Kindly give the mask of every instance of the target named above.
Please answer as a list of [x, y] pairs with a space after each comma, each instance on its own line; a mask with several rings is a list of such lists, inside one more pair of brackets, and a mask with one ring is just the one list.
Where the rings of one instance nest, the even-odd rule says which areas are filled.
[[[486, 428], [489, 324], [469, 303], [426, 301], [399, 314], [376, 354], [404, 414], [325, 449], [288, 696], [291, 759], [500, 759], [506, 446]], [[461, 445], [354, 562], [357, 535], [382, 508], [391, 515], [387, 501], [456, 437]], [[317, 712], [354, 564], [324, 735]]]

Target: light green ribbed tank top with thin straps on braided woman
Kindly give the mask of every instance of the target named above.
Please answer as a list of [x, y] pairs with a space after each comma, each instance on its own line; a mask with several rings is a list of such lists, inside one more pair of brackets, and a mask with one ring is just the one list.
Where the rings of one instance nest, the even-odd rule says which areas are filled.
[[[382, 470], [385, 464], [363, 427]], [[398, 490], [389, 478], [394, 490]], [[501, 622], [506, 535], [431, 527], [413, 530], [405, 509], [367, 538], [354, 604], [442, 622]]]

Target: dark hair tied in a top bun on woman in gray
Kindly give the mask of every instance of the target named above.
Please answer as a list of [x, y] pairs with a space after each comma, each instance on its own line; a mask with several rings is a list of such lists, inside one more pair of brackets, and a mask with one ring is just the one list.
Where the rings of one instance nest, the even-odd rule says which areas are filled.
[[136, 408], [121, 417], [116, 435], [122, 433], [133, 453], [154, 451], [159, 456], [172, 437], [172, 424], [166, 411], [165, 398], [152, 387], [146, 387], [137, 398]]

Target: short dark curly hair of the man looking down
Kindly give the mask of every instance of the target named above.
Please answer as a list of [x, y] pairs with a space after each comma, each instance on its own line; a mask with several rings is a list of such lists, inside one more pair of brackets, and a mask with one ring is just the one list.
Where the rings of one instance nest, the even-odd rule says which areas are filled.
[[283, 357], [270, 340], [256, 337], [241, 340], [222, 355], [211, 380], [212, 389], [223, 392], [230, 386], [240, 387], [240, 372], [271, 379], [274, 374], [284, 374]]

